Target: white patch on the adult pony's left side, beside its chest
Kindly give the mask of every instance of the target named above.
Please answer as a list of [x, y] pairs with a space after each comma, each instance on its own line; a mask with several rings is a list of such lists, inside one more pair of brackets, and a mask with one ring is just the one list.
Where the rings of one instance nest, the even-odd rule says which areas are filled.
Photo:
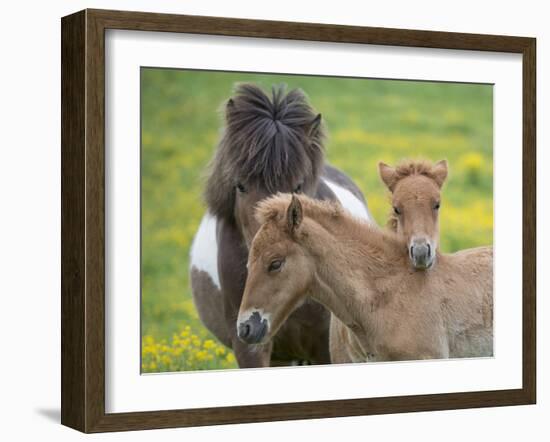
[[221, 288], [218, 274], [218, 241], [216, 218], [206, 213], [191, 245], [191, 267], [208, 273], [218, 289]]

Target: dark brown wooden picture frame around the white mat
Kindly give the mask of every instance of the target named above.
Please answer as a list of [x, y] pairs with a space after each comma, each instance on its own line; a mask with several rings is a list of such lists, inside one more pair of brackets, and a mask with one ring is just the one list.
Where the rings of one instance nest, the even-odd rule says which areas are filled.
[[[62, 30], [61, 422], [84, 432], [534, 404], [536, 400], [536, 40], [405, 29], [84, 10]], [[523, 386], [401, 397], [105, 413], [105, 30], [185, 32], [523, 56]]]

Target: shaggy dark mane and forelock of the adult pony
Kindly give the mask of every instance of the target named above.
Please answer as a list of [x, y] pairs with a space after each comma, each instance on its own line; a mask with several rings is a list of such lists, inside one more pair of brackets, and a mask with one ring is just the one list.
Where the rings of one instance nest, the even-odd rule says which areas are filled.
[[323, 168], [324, 130], [305, 94], [274, 86], [271, 97], [240, 84], [225, 106], [226, 126], [210, 164], [205, 199], [211, 213], [232, 218], [235, 186], [269, 193], [303, 181], [311, 189]]

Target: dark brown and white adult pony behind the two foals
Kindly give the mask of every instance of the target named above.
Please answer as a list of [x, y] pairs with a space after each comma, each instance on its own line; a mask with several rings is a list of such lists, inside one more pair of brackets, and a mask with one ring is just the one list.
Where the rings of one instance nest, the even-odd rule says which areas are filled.
[[[361, 191], [324, 163], [324, 129], [300, 90], [274, 87], [271, 98], [241, 84], [225, 106], [225, 130], [210, 164], [207, 213], [191, 247], [191, 288], [203, 324], [233, 349], [240, 367], [330, 362], [329, 313], [306, 301], [272, 341], [249, 346], [235, 323], [247, 277], [248, 247], [259, 224], [256, 204], [277, 192], [338, 199], [370, 219]], [[289, 312], [290, 313], [290, 312]]]

